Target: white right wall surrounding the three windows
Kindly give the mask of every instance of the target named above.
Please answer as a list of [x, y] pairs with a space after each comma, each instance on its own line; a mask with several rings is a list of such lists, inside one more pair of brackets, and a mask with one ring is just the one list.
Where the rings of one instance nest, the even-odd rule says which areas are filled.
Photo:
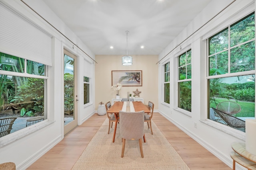
[[[207, 80], [206, 80], [206, 41], [207, 36], [214, 35], [227, 27], [228, 24], [243, 18], [255, 10], [254, 0], [236, 0], [213, 20], [209, 21], [218, 12], [224, 9], [232, 0], [212, 0], [208, 6], [172, 41], [159, 55], [158, 87], [162, 86], [161, 75], [163, 64], [170, 61], [170, 105], [162, 103], [162, 89], [158, 89], [158, 110], [162, 115], [177, 125], [190, 137], [220, 158], [228, 166], [232, 167], [230, 151], [233, 142], [245, 142], [245, 133], [233, 128], [221, 125], [207, 119]], [[249, 7], [248, 7], [249, 6]], [[248, 7], [248, 8], [247, 8]], [[247, 8], [246, 10], [243, 10]], [[209, 21], [209, 22], [208, 22]], [[206, 25], [204, 25], [208, 22]], [[194, 33], [204, 25], [199, 31]], [[193, 34], [194, 33], [194, 34]], [[191, 35], [191, 36], [190, 36]], [[186, 41], [184, 41], [189, 37]], [[176, 48], [181, 44], [182, 50]], [[191, 114], [182, 113], [177, 108], [176, 56], [182, 54], [183, 49], [192, 49], [192, 111]], [[167, 55], [170, 51], [168, 56]], [[197, 124], [197, 128], [194, 127]], [[241, 167], [240, 167], [241, 168]]]

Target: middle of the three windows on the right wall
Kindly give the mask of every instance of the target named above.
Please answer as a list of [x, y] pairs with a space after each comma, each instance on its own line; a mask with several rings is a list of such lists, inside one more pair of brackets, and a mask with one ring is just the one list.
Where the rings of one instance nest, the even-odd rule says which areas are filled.
[[178, 107], [191, 111], [191, 49], [178, 57]]

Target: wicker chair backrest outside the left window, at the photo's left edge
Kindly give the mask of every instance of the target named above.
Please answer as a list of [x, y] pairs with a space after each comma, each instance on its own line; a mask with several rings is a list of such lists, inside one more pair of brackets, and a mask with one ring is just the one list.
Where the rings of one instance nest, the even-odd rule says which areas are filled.
[[0, 119], [0, 137], [10, 134], [12, 130], [12, 124], [17, 117], [6, 117]]

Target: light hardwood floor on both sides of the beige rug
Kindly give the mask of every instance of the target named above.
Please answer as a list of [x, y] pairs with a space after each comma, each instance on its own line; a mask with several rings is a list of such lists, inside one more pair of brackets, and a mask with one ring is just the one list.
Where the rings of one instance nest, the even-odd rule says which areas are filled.
[[[70, 170], [106, 117], [94, 114], [34, 162], [28, 170]], [[231, 170], [159, 113], [154, 113], [152, 120], [191, 170]]]

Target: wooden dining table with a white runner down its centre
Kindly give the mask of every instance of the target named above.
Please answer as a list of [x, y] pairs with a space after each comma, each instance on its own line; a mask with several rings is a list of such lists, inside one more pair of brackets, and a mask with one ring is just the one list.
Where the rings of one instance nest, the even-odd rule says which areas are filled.
[[[148, 107], [146, 107], [142, 102], [132, 102], [132, 104], [134, 106], [135, 112], [143, 110], [144, 113], [150, 113], [150, 110], [148, 109]], [[116, 137], [116, 127], [117, 127], [117, 123], [118, 123], [119, 111], [122, 110], [123, 105], [124, 105], [124, 102], [115, 102], [113, 104], [113, 106], [111, 106], [110, 109], [108, 109], [108, 111], [107, 111], [107, 113], [114, 113], [115, 117], [116, 117], [113, 142], [115, 142], [115, 137]], [[129, 106], [126, 107], [126, 111], [130, 112]]]

